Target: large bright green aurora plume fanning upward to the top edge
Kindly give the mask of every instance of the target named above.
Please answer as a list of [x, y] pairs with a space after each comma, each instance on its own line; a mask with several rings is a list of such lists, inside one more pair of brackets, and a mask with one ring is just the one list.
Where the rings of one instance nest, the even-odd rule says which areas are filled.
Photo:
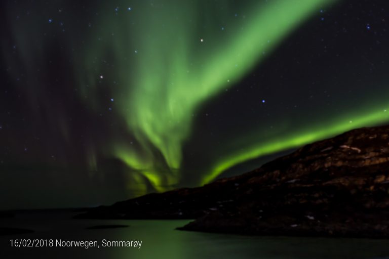
[[[132, 148], [126, 143], [125, 147], [116, 147], [114, 144], [114, 152], [154, 187], [176, 184], [180, 178], [182, 143], [190, 135], [191, 115], [207, 99], [225, 88], [226, 83], [240, 79], [263, 58], [263, 52], [275, 46], [321, 2], [304, 1], [301, 2], [303, 8], [291, 1], [260, 5], [253, 13], [247, 14], [252, 18], [246, 18], [248, 22], [243, 32], [232, 32], [234, 37], [227, 37], [230, 42], [224, 46], [217, 42], [218, 37], [223, 37], [218, 35], [220, 32], [207, 29], [199, 36], [190, 33], [202, 23], [197, 17], [191, 17], [196, 6], [171, 2], [160, 8], [146, 9], [143, 15], [152, 19], [142, 21], [143, 30], [132, 34], [140, 45], [137, 56], [142, 57], [120, 62], [118, 83], [123, 87], [118, 88], [118, 93], [113, 93], [114, 97], [118, 96], [119, 111], [140, 147]], [[214, 13], [204, 15], [211, 17]], [[176, 19], [170, 19], [170, 16]], [[106, 26], [109, 17], [102, 18], [102, 21]], [[159, 21], [164, 21], [162, 26]], [[234, 31], [234, 26], [228, 27]], [[122, 31], [116, 33], [123, 37], [119, 36], [108, 45], [115, 53], [113, 55], [121, 60], [132, 38]], [[98, 57], [104, 53], [103, 48], [97, 48], [91, 56]], [[126, 73], [129, 67], [136, 71], [133, 78]], [[139, 87], [129, 88], [128, 85]], [[160, 152], [166, 162], [164, 172], [157, 169], [153, 149]]]

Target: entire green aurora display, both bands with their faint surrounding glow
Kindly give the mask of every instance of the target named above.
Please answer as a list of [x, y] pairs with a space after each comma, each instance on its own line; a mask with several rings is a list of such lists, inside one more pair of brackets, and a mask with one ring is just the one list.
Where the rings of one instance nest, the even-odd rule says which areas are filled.
[[[99, 3], [103, 3], [102, 6]], [[288, 36], [326, 6], [335, 5], [337, 0], [243, 1], [238, 6], [227, 0], [152, 3], [120, 0], [115, 4], [119, 11], [115, 11], [111, 3], [99, 3], [80, 26], [72, 17], [69, 18], [72, 20], [65, 20], [66, 33], [58, 34], [59, 19], [47, 27], [42, 26], [43, 22], [47, 23], [46, 18], [31, 20], [34, 26], [10, 22], [15, 32], [12, 44], [17, 46], [18, 59], [8, 51], [9, 46], [3, 46], [3, 55], [15, 79], [25, 73], [29, 82], [26, 85], [34, 85], [21, 84], [19, 90], [27, 93], [34, 116], [40, 118], [41, 110], [36, 107], [40, 101], [42, 107], [49, 107], [45, 104], [47, 96], [51, 95], [45, 92], [50, 89], [47, 86], [55, 82], [47, 74], [36, 73], [36, 68], [44, 71], [47, 59], [51, 59], [48, 50], [57, 50], [63, 42], [75, 50], [68, 53], [68, 62], [73, 66], [69, 69], [74, 69], [69, 75], [69, 84], [73, 88], [75, 74], [74, 89], [80, 103], [91, 116], [112, 108], [109, 116], [104, 117], [104, 122], [112, 125], [107, 130], [107, 138], [96, 140], [93, 134], [85, 138], [88, 174], [91, 178], [97, 174], [104, 181], [111, 168], [106, 169], [99, 159], [102, 156], [120, 159], [127, 166], [123, 184], [130, 196], [134, 196], [182, 186], [189, 174], [185, 171], [184, 158], [187, 157], [183, 157], [187, 151], [185, 144], [202, 137], [196, 135], [196, 114], [222, 96], [225, 89], [238, 87], [255, 67], [272, 58], [271, 52]], [[54, 6], [48, 11], [42, 2], [36, 14], [51, 17], [52, 12], [58, 11]], [[19, 15], [19, 10], [10, 9], [9, 13], [11, 20]], [[81, 13], [85, 15], [84, 11]], [[90, 22], [90, 26], [86, 22]], [[42, 33], [57, 35], [58, 41], [36, 37]], [[18, 62], [23, 63], [25, 71], [12, 69]], [[345, 89], [355, 87], [346, 85], [348, 79], [324, 81], [324, 84], [345, 84]], [[246, 127], [238, 125], [231, 127], [231, 132], [229, 129], [218, 132], [224, 143], [210, 143], [212, 148], [205, 153], [209, 160], [204, 165], [199, 163], [201, 170], [193, 168], [199, 175], [191, 177], [190, 181], [197, 181], [191, 184], [207, 184], [229, 168], [251, 159], [297, 148], [353, 128], [389, 121], [385, 99], [389, 93], [378, 88], [366, 91], [365, 83], [362, 97], [347, 96], [343, 91], [333, 99], [336, 104], [331, 109], [309, 103], [304, 106], [304, 114], [284, 114], [287, 109], [283, 109], [280, 114], [274, 112], [277, 120], [264, 120]], [[258, 85], [261, 88], [260, 82]], [[291, 82], [282, 85], [282, 89], [294, 85], [295, 82]], [[296, 92], [301, 94], [298, 89]], [[277, 98], [282, 100], [284, 96]], [[51, 124], [54, 129], [60, 128], [59, 138], [67, 143], [72, 131], [66, 116], [67, 113], [58, 111], [58, 121], [51, 121]], [[258, 121], [255, 117], [250, 119]], [[269, 130], [270, 125], [276, 126]], [[104, 126], [100, 130], [103, 133], [107, 128]]]

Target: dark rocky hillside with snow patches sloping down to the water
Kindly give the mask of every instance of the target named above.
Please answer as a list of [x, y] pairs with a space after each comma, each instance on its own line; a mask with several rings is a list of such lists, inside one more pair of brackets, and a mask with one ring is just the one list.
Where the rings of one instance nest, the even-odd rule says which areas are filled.
[[79, 218], [197, 219], [184, 230], [389, 237], [389, 126], [306, 145], [244, 175], [149, 194]]

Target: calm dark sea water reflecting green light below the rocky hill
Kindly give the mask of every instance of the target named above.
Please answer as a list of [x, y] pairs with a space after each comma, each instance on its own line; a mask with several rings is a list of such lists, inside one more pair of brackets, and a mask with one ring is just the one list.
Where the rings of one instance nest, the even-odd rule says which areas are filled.
[[[0, 227], [34, 233], [0, 236], [0, 258], [389, 258], [389, 240], [250, 237], [175, 230], [186, 220], [72, 220], [74, 212], [23, 212]], [[127, 228], [86, 229], [96, 225]], [[11, 239], [97, 241], [90, 247], [11, 247]], [[141, 248], [102, 247], [102, 240], [142, 241]]]

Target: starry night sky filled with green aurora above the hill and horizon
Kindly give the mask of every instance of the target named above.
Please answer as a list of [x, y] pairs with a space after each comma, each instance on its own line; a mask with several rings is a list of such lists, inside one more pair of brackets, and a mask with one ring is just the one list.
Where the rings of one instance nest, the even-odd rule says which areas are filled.
[[0, 209], [200, 186], [389, 122], [385, 0], [5, 0], [0, 20]]

